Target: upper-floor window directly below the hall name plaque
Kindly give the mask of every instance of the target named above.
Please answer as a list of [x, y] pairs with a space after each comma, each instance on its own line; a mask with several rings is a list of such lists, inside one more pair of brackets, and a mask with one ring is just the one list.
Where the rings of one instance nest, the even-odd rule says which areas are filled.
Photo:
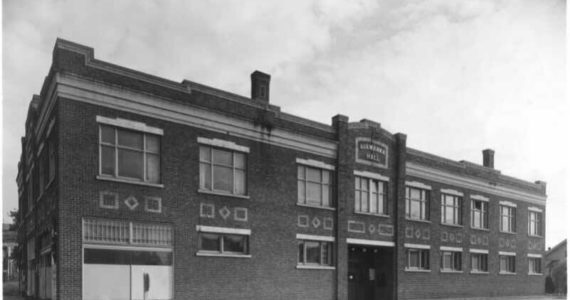
[[354, 209], [356, 212], [385, 215], [387, 212], [386, 183], [355, 177]]

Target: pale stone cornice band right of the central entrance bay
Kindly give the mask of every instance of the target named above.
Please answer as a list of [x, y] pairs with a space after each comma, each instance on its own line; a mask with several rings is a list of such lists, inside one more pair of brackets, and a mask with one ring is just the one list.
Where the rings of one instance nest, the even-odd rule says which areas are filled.
[[505, 186], [490, 185], [488, 181], [458, 176], [457, 174], [453, 174], [451, 172], [422, 166], [413, 162], [406, 163], [406, 174], [513, 200], [525, 201], [541, 205], [544, 205], [546, 202], [546, 196], [544, 195], [537, 195]]

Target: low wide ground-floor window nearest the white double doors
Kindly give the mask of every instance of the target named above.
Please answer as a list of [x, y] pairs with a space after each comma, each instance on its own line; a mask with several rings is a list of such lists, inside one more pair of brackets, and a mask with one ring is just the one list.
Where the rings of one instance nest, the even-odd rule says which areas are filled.
[[200, 232], [200, 251], [217, 254], [248, 254], [249, 236]]

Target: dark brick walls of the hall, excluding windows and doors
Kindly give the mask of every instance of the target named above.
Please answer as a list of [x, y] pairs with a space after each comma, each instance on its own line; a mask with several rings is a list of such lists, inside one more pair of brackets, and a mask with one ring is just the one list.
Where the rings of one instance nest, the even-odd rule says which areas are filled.
[[[171, 82], [98, 61], [92, 49], [62, 40], [35, 99], [18, 177], [25, 222], [19, 234], [24, 245], [46, 232], [51, 235], [56, 290], [50, 297], [84, 295], [85, 218], [172, 226], [173, 299], [357, 299], [365, 297], [353, 290], [359, 284], [377, 299], [543, 292], [544, 277], [528, 274], [527, 258], [544, 252], [544, 234], [528, 235], [529, 207], [542, 212], [544, 233], [542, 182], [407, 148], [404, 134], [389, 133], [372, 121], [349, 122], [338, 115], [330, 126], [316, 123], [282, 113], [266, 101], [268, 94], [267, 99], [249, 99], [188, 81]], [[100, 176], [98, 118], [162, 130], [159, 184]], [[50, 120], [56, 176], [44, 196], [34, 196], [35, 204], [27, 207], [25, 178], [36, 176], [32, 165], [39, 164], [27, 161], [38, 160], [35, 154], [47, 138]], [[200, 139], [247, 149], [246, 196], [201, 190]], [[297, 172], [304, 163], [331, 168], [332, 207], [298, 204]], [[356, 212], [355, 176], [385, 182], [382, 215]], [[427, 221], [406, 219], [406, 186], [412, 182], [430, 187]], [[442, 189], [462, 194], [461, 226], [440, 224]], [[102, 192], [117, 195], [118, 208], [103, 208]], [[472, 195], [489, 199], [488, 230], [470, 227]], [[160, 212], [145, 209], [148, 197], [161, 199]], [[130, 198], [137, 205], [129, 206]], [[516, 233], [499, 232], [500, 201], [516, 205]], [[198, 255], [197, 226], [251, 230], [249, 256]], [[299, 267], [300, 236], [334, 240], [332, 267]], [[409, 244], [430, 247], [429, 272], [407, 269]], [[441, 246], [462, 249], [461, 272], [440, 271]], [[45, 250], [40, 248], [36, 242], [36, 257]], [[470, 272], [472, 248], [488, 251], [487, 274]], [[375, 263], [362, 269], [368, 275], [355, 273], [357, 257], [351, 251], [378, 253]], [[516, 274], [499, 274], [499, 251], [515, 253]], [[35, 258], [23, 259], [35, 263]], [[359, 259], [372, 258], [362, 254]], [[38, 289], [30, 292], [38, 295]]]

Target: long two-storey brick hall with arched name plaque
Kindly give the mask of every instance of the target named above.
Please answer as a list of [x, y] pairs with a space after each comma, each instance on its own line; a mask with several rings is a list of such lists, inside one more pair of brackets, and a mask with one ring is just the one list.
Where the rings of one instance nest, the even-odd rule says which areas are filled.
[[26, 292], [414, 299], [543, 292], [546, 185], [173, 82], [58, 40], [22, 138]]

